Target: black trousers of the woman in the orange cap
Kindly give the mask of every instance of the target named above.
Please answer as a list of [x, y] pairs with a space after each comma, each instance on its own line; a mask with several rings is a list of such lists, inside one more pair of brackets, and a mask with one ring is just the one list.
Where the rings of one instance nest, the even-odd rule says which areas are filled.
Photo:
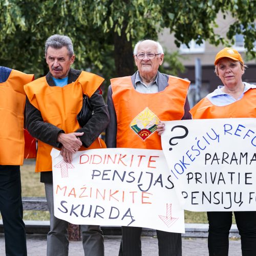
[[[232, 225], [231, 211], [208, 211], [210, 256], [228, 255], [228, 235]], [[235, 211], [243, 256], [256, 255], [256, 211]]]

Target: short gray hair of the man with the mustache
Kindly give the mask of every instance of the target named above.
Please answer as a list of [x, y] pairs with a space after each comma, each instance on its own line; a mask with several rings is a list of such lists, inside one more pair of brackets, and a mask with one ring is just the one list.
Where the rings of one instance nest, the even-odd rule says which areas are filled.
[[69, 57], [71, 58], [74, 55], [74, 49], [73, 44], [69, 36], [67, 35], [52, 35], [48, 37], [46, 40], [46, 48], [45, 48], [45, 54], [47, 54], [47, 50], [49, 47], [52, 47], [54, 49], [60, 49], [62, 47], [67, 47], [69, 51]]

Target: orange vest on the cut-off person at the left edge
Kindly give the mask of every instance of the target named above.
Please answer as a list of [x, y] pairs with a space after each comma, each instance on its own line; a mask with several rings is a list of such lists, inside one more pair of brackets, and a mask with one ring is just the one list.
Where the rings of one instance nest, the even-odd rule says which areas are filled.
[[22, 165], [24, 159], [24, 85], [34, 75], [12, 70], [7, 81], [0, 83], [0, 164]]

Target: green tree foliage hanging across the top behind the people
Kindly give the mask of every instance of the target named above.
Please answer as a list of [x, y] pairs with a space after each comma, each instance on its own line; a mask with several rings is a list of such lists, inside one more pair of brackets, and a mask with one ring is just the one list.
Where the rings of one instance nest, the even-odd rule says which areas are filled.
[[162, 28], [174, 33], [177, 46], [191, 39], [226, 44], [215, 32], [218, 13], [234, 17], [227, 38], [243, 34], [255, 57], [256, 0], [0, 0], [0, 11], [0, 65], [37, 77], [47, 72], [44, 44], [52, 34], [72, 38], [75, 68], [109, 78], [131, 75], [135, 42], [157, 39]]

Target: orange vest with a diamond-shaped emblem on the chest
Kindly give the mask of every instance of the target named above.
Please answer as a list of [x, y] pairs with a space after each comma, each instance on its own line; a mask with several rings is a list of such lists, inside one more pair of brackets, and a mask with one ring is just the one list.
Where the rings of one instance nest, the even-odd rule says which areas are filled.
[[117, 147], [162, 150], [156, 126], [161, 121], [181, 120], [189, 81], [169, 76], [161, 92], [137, 92], [131, 76], [111, 79], [117, 116]]

